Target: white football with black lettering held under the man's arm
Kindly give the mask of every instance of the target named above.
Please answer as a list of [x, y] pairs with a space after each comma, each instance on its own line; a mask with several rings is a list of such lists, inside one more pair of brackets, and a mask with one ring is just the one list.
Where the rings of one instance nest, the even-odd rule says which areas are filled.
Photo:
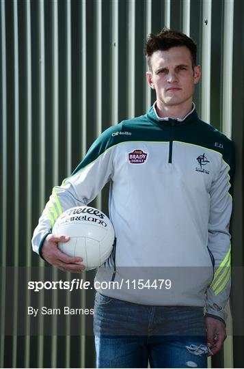
[[114, 230], [109, 218], [91, 206], [77, 206], [66, 210], [52, 230], [57, 236], [69, 236], [59, 249], [68, 256], [83, 258], [85, 270], [100, 267], [113, 249]]

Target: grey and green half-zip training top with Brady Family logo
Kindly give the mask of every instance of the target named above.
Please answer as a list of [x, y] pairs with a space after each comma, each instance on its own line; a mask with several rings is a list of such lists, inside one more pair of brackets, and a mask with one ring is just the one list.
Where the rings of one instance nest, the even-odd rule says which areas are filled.
[[[116, 250], [96, 280], [118, 284], [98, 290], [148, 305], [205, 306], [225, 320], [232, 176], [232, 141], [200, 120], [195, 107], [177, 120], [159, 118], [152, 106], [103, 132], [72, 175], [54, 187], [33, 250], [40, 254], [64, 210], [89, 204], [110, 181]], [[162, 279], [170, 279], [171, 288]]]

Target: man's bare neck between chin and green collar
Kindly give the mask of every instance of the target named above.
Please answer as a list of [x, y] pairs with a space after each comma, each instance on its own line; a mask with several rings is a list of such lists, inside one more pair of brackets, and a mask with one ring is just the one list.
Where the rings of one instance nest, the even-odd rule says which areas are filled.
[[161, 101], [156, 102], [155, 109], [160, 118], [180, 118], [183, 119], [192, 109], [192, 100], [182, 105], [165, 106]]

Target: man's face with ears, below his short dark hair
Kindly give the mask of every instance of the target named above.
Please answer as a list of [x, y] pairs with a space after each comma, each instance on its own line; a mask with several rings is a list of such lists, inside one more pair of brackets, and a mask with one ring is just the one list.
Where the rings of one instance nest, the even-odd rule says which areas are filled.
[[176, 46], [152, 54], [151, 72], [147, 72], [147, 79], [156, 91], [157, 105], [174, 107], [192, 101], [200, 75], [200, 66], [192, 67], [189, 49]]

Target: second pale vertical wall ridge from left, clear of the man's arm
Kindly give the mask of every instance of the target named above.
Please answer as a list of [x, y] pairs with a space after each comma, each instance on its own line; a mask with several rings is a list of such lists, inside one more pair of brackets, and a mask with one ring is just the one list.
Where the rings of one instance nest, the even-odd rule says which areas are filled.
[[12, 366], [17, 366], [18, 329], [18, 242], [19, 242], [19, 68], [18, 68], [18, 2], [14, 0], [14, 290]]

